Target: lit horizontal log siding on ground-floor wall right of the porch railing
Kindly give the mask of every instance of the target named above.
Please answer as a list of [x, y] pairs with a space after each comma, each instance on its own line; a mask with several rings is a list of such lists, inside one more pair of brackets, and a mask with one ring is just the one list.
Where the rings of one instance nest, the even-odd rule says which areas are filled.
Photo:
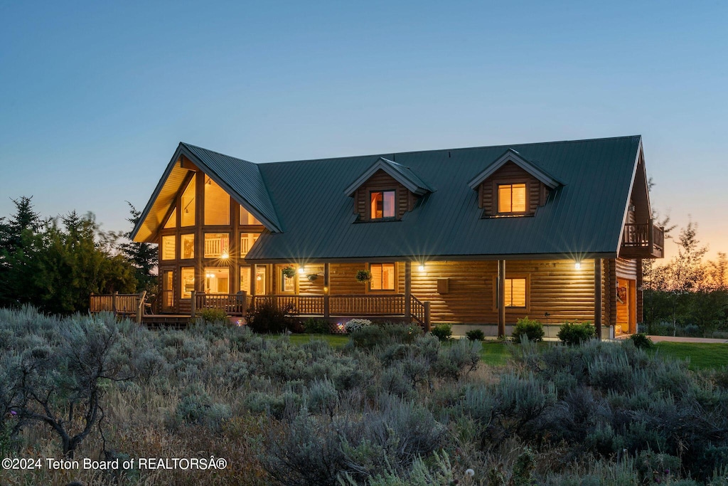
[[[432, 321], [494, 324], [496, 262], [427, 262], [425, 272], [412, 272], [412, 294], [432, 306]], [[528, 315], [543, 324], [593, 321], [594, 262], [576, 270], [570, 260], [506, 262], [506, 278], [528, 276], [528, 307], [507, 309], [506, 322]], [[437, 279], [449, 278], [448, 294], [438, 294]], [[546, 317], [545, 313], [549, 313]]]

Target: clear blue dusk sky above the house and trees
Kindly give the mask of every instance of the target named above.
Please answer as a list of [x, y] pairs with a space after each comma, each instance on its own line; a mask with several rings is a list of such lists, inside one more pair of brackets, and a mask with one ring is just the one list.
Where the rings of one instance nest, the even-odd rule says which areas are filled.
[[[728, 3], [0, 0], [0, 215], [126, 230], [179, 141], [254, 162], [641, 134], [728, 251]], [[669, 256], [669, 255], [668, 255]]]

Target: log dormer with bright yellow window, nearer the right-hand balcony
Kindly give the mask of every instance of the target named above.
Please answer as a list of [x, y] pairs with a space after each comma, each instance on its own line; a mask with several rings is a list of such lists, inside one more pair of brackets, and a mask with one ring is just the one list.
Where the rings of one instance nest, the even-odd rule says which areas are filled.
[[484, 218], [533, 216], [561, 183], [513, 149], [491, 162], [468, 185], [478, 191]]

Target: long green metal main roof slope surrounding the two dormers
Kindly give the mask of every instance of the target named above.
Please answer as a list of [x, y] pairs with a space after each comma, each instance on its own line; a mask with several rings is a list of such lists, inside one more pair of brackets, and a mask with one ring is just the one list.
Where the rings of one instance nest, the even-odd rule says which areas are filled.
[[[562, 185], [532, 217], [483, 219], [468, 182], [508, 149]], [[261, 235], [246, 259], [616, 256], [640, 151], [628, 136], [260, 164], [285, 232]], [[356, 222], [344, 190], [380, 157], [437, 191], [400, 221]]]

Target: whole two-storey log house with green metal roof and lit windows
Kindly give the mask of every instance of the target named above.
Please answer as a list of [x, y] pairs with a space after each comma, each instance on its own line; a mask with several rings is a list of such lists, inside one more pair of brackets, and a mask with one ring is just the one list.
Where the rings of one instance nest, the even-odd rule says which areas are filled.
[[132, 238], [159, 245], [159, 313], [269, 299], [608, 337], [641, 321], [641, 259], [664, 246], [651, 214], [641, 136], [269, 163], [181, 143]]

